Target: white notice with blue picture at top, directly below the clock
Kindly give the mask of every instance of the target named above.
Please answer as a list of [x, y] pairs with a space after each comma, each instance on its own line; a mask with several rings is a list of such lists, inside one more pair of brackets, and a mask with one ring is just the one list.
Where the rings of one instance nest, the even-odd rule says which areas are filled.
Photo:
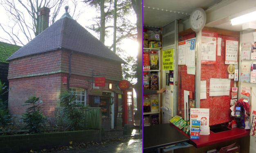
[[195, 38], [186, 40], [186, 66], [195, 66]]

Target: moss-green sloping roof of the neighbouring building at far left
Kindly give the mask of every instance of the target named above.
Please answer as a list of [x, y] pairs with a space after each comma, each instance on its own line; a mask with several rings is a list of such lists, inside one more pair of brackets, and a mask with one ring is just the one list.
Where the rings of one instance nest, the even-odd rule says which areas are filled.
[[18, 51], [21, 46], [0, 42], [0, 63], [8, 63], [6, 59]]

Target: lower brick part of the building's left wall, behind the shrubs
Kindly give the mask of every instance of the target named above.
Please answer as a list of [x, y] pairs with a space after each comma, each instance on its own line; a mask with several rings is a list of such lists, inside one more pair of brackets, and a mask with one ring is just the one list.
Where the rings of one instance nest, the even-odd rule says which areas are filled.
[[12, 115], [25, 113], [27, 107], [23, 106], [24, 102], [35, 95], [43, 101], [43, 113], [51, 116], [61, 91], [61, 74], [11, 79], [9, 89], [8, 107]]

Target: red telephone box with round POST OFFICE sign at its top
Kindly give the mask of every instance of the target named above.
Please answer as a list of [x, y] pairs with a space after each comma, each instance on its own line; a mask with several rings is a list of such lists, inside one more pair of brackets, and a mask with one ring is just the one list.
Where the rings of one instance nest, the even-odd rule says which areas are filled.
[[134, 121], [133, 89], [130, 88], [130, 82], [127, 80], [121, 80], [118, 85], [122, 91], [123, 126], [124, 126], [124, 124], [132, 124], [133, 125], [133, 121]]

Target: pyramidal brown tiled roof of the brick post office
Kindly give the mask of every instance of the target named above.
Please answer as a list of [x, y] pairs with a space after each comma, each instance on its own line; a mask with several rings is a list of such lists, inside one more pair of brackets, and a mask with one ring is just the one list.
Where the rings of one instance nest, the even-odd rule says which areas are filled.
[[78, 22], [68, 17], [56, 21], [7, 60], [56, 49], [68, 49], [125, 63]]

